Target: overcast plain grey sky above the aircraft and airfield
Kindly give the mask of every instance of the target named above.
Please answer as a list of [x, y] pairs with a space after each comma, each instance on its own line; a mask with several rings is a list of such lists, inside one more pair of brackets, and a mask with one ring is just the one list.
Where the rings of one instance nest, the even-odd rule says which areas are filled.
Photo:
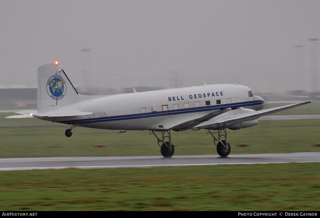
[[318, 0], [0, 0], [0, 86], [36, 85], [37, 68], [58, 60], [77, 86], [170, 83], [101, 74], [111, 73], [282, 92], [297, 89], [294, 46], [301, 45], [300, 89], [308, 90], [307, 39], [320, 37], [319, 12]]

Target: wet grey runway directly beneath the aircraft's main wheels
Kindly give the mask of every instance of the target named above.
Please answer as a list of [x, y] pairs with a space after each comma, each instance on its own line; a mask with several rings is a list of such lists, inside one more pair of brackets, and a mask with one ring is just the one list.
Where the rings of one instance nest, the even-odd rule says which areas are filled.
[[226, 158], [222, 158], [219, 155], [186, 155], [173, 156], [171, 158], [164, 158], [162, 156], [0, 158], [0, 171], [64, 168], [141, 168], [293, 162], [320, 162], [320, 152], [229, 155]]

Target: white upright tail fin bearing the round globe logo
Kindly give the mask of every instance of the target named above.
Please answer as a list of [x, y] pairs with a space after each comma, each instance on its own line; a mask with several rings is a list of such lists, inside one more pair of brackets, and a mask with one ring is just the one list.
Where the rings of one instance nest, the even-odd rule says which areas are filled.
[[38, 68], [38, 108], [68, 105], [78, 101], [78, 92], [58, 66], [44, 64]]

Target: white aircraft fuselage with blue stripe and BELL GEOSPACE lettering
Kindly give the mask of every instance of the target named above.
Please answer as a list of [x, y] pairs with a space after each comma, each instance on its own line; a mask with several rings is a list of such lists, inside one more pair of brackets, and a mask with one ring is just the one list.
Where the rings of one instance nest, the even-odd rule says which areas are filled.
[[161, 131], [224, 108], [264, 104], [263, 100], [255, 100], [250, 88], [233, 84], [78, 97], [79, 102], [62, 108], [52, 106], [52, 110], [55, 113], [79, 110], [92, 114], [40, 119], [97, 129]]

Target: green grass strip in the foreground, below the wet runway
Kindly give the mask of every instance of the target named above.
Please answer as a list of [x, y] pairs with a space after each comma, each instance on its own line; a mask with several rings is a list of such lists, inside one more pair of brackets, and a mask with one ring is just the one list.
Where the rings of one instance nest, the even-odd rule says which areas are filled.
[[319, 211], [320, 163], [0, 172], [4, 211]]

